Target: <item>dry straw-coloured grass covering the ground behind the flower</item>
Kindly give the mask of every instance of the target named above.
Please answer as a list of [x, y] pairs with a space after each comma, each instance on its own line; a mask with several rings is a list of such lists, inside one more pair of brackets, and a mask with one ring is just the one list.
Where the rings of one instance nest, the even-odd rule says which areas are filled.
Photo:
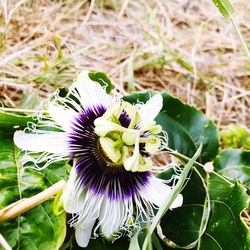
[[[234, 1], [235, 2], [235, 1]], [[250, 4], [236, 1], [250, 45]], [[122, 94], [167, 90], [219, 127], [250, 125], [250, 65], [211, 0], [1, 0], [0, 100], [44, 98], [81, 69], [106, 72]]]

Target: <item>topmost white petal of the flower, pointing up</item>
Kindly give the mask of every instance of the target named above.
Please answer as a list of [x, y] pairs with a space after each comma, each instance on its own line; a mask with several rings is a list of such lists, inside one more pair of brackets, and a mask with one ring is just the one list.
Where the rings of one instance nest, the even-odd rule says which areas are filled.
[[115, 101], [114, 98], [108, 95], [99, 83], [92, 81], [88, 74], [88, 71], [83, 71], [74, 85], [80, 94], [82, 106], [85, 109], [95, 109], [100, 105], [110, 107]]

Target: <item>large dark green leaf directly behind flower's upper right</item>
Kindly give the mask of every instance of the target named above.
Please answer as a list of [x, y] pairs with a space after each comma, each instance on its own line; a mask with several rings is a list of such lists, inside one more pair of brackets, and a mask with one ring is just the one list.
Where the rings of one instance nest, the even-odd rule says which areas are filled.
[[[152, 92], [133, 93], [125, 96], [130, 103], [146, 102]], [[201, 162], [211, 161], [218, 152], [219, 139], [216, 127], [200, 111], [168, 93], [163, 93], [163, 108], [156, 121], [168, 134], [169, 147], [192, 157], [202, 143]]]

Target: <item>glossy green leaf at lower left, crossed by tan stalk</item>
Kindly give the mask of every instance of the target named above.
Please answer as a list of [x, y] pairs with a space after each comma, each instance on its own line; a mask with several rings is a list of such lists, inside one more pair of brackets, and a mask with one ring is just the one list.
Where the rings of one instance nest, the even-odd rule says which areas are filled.
[[[21, 152], [13, 145], [12, 134], [1, 132], [0, 142], [0, 209], [66, 178], [64, 162], [49, 167], [47, 172], [23, 171]], [[52, 204], [53, 200], [46, 201], [13, 220], [0, 223], [0, 233], [13, 249], [59, 249], [66, 234], [66, 215], [55, 216]]]

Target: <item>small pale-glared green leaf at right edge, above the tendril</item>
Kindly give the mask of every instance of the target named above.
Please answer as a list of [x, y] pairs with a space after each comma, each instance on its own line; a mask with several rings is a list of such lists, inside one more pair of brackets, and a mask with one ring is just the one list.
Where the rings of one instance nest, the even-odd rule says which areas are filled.
[[250, 151], [227, 149], [214, 160], [216, 172], [232, 179], [238, 179], [250, 188]]

